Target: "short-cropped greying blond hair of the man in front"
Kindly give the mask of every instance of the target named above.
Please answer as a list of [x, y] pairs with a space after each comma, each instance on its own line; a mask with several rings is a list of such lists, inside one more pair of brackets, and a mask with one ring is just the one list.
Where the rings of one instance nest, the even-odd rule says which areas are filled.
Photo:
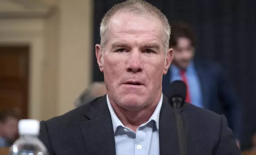
[[144, 0], [126, 0], [125, 2], [115, 4], [111, 9], [109, 9], [109, 11], [107, 11], [101, 21], [100, 26], [101, 47], [103, 51], [108, 41], [107, 28], [109, 21], [111, 20], [111, 17], [113, 17], [113, 15], [118, 11], [134, 13], [136, 15], [144, 15], [145, 17], [151, 17], [152, 19], [158, 19], [161, 21], [161, 24], [164, 28], [163, 43], [165, 55], [167, 54], [167, 50], [169, 49], [169, 39], [171, 35], [171, 27], [169, 25], [168, 19], [159, 9]]

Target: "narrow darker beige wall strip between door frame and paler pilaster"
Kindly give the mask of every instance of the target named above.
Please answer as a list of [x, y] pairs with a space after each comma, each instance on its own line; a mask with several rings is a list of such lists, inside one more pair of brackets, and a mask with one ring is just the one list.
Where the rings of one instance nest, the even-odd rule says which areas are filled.
[[59, 12], [44, 20], [44, 47], [41, 119], [48, 119], [58, 115], [58, 79], [59, 79]]

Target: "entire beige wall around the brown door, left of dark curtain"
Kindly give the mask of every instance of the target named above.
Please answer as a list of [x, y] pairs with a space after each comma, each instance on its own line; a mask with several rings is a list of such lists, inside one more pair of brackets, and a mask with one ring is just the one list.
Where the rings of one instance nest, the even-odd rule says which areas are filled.
[[54, 3], [47, 19], [0, 20], [0, 43], [31, 46], [29, 117], [39, 120], [72, 110], [91, 81], [92, 1]]

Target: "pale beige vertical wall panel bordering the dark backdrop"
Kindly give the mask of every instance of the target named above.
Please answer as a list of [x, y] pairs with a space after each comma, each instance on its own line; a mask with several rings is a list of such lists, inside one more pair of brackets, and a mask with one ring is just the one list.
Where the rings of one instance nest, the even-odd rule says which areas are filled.
[[92, 8], [90, 0], [60, 1], [58, 114], [74, 107], [91, 80]]

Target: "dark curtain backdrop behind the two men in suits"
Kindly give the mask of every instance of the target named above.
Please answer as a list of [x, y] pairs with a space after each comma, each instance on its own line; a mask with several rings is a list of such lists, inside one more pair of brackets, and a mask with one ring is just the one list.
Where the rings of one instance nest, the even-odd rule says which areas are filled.
[[[94, 0], [94, 42], [99, 25], [112, 5], [124, 0]], [[244, 107], [242, 150], [250, 148], [256, 131], [256, 0], [147, 0], [170, 22], [188, 22], [197, 36], [196, 58], [222, 64]], [[93, 81], [103, 74], [93, 52]]]

